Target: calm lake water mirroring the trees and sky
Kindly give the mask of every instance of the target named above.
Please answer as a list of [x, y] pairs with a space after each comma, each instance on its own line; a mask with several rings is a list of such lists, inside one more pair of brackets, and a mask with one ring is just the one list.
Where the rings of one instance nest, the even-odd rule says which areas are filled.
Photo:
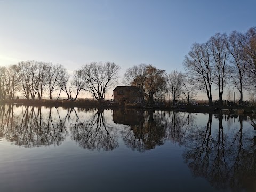
[[0, 191], [256, 191], [251, 118], [2, 105]]

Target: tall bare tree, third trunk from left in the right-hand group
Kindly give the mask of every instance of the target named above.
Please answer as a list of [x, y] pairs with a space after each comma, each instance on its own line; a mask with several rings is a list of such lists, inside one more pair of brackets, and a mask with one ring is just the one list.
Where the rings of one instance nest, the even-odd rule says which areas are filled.
[[246, 63], [243, 60], [242, 34], [233, 31], [229, 35], [228, 50], [231, 55], [229, 74], [231, 80], [240, 93], [239, 103], [243, 103], [243, 89], [245, 86]]

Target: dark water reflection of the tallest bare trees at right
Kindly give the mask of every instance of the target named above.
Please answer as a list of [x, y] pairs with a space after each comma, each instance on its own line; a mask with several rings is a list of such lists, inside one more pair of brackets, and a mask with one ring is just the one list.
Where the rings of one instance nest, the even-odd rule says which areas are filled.
[[255, 143], [250, 129], [243, 130], [244, 117], [239, 117], [239, 129], [233, 130], [223, 127], [222, 115], [215, 118], [218, 129], [212, 128], [213, 115], [209, 114], [203, 129], [194, 127], [187, 134], [185, 162], [196, 177], [206, 178], [218, 189], [255, 191]]

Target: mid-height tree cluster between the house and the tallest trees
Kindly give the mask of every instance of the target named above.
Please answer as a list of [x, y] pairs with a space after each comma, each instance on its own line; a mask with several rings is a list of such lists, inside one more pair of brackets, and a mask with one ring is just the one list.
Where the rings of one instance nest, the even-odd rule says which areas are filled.
[[172, 71], [166, 74], [165, 70], [157, 69], [152, 65], [134, 65], [126, 70], [123, 84], [139, 87], [141, 101], [153, 104], [159, 102], [163, 95], [170, 95], [175, 104], [181, 96], [190, 103], [197, 91], [188, 84], [185, 74]]

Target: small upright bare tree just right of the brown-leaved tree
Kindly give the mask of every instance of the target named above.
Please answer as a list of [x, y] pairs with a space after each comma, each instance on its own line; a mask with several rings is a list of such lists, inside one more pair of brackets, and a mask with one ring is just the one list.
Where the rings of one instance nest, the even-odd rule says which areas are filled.
[[179, 99], [182, 93], [183, 78], [183, 74], [175, 70], [167, 75], [167, 89], [172, 96], [173, 105], [175, 105], [175, 101]]

